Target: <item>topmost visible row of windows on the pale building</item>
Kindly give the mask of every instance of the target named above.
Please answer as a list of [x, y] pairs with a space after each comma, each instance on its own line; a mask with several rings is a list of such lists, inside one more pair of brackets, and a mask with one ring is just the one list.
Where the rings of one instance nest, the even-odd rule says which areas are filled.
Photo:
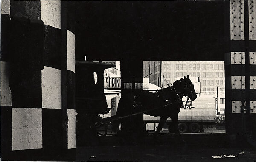
[[[215, 67], [215, 68], [214, 68]], [[176, 64], [176, 70], [187, 70], [186, 64]], [[223, 64], [189, 64], [188, 70], [223, 70]], [[165, 70], [165, 69], [164, 69]], [[167, 69], [169, 70], [169, 69]]]

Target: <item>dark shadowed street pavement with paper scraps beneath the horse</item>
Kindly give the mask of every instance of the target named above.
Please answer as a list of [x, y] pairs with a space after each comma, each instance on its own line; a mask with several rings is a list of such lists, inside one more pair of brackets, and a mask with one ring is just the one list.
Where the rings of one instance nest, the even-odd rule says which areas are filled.
[[[209, 130], [216, 130], [211, 128]], [[221, 130], [223, 131], [223, 130]], [[255, 162], [256, 148], [246, 141], [227, 140], [225, 133], [160, 134], [155, 142], [151, 134], [144, 140], [122, 141], [116, 136], [100, 137], [98, 145], [76, 148], [77, 161], [168, 161], [168, 162]], [[244, 154], [238, 155], [241, 151]], [[214, 159], [218, 155], [238, 155]]]

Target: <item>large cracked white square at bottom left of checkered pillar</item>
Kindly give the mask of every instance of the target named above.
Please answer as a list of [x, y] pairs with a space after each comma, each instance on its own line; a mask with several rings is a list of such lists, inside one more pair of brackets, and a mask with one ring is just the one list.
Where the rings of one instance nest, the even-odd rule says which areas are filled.
[[42, 109], [12, 108], [12, 150], [43, 148]]

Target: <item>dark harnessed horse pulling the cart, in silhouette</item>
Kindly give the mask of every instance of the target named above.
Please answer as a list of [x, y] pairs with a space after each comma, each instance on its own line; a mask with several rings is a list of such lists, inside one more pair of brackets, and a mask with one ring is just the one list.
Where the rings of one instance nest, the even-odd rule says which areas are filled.
[[160, 116], [157, 130], [153, 136], [154, 139], [157, 139], [164, 123], [167, 118], [170, 117], [175, 129], [175, 136], [179, 137], [178, 113], [180, 112], [180, 107], [183, 104], [183, 96], [190, 98], [192, 101], [197, 98], [194, 85], [190, 81], [189, 75], [175, 81], [172, 86], [158, 90], [155, 93], [140, 91], [131, 93], [128, 97], [126, 96], [125, 101], [121, 98], [118, 104], [116, 116], [121, 117], [128, 115], [129, 113], [136, 113], [138, 111], [143, 112], [145, 110], [148, 110], [145, 111], [145, 114], [147, 115], [155, 117]]

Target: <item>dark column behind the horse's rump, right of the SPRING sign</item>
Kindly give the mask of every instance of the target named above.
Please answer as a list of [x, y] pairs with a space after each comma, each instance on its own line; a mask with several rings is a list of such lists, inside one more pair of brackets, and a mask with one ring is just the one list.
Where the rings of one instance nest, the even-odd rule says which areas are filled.
[[[136, 57], [132, 55], [130, 55], [129, 58], [122, 58], [121, 71], [121, 98], [124, 103], [123, 105], [131, 105], [133, 96], [143, 89], [143, 61], [137, 60]], [[132, 106], [125, 107], [127, 115], [140, 111], [140, 109], [134, 110]], [[143, 114], [125, 118], [122, 122], [122, 131], [128, 131], [131, 137], [134, 137], [133, 139], [138, 139], [138, 137], [145, 132]]]

